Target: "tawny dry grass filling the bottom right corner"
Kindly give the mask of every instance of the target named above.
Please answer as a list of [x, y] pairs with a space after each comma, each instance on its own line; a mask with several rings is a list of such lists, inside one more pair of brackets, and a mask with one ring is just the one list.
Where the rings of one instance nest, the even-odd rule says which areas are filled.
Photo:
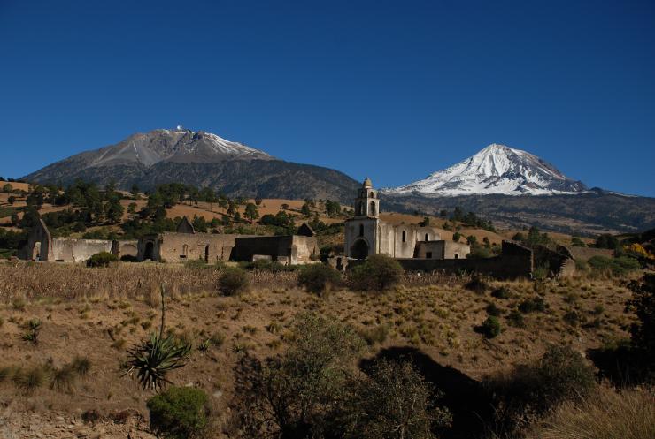
[[584, 404], [559, 405], [541, 428], [538, 439], [652, 439], [655, 397], [647, 390], [601, 388]]

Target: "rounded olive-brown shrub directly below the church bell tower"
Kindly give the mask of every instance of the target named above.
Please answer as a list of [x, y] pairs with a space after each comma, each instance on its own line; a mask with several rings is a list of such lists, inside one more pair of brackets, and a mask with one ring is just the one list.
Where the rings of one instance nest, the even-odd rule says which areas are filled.
[[399, 284], [404, 274], [398, 261], [386, 254], [374, 254], [351, 269], [348, 281], [353, 290], [384, 291]]

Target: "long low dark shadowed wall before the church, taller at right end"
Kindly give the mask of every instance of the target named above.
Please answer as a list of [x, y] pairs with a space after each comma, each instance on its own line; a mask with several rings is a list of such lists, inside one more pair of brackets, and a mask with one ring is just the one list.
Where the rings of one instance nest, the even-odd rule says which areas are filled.
[[509, 241], [503, 242], [503, 253], [483, 259], [398, 259], [408, 271], [472, 271], [500, 279], [532, 276], [532, 251]]

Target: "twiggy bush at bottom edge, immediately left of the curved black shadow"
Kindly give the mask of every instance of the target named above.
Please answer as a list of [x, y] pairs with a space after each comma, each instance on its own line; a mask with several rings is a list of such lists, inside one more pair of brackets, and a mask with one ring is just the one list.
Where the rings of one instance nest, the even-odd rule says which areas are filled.
[[434, 406], [441, 394], [408, 361], [377, 361], [354, 395], [347, 407], [345, 437], [432, 439], [433, 428], [451, 425], [448, 409]]

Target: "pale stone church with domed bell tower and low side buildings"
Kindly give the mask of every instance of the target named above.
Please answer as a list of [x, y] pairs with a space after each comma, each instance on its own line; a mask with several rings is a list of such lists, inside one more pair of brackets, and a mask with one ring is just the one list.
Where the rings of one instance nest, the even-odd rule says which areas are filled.
[[398, 259], [459, 259], [470, 252], [467, 245], [442, 240], [435, 227], [381, 220], [379, 193], [370, 178], [358, 190], [354, 208], [355, 216], [345, 223], [343, 251], [348, 258], [387, 254]]

